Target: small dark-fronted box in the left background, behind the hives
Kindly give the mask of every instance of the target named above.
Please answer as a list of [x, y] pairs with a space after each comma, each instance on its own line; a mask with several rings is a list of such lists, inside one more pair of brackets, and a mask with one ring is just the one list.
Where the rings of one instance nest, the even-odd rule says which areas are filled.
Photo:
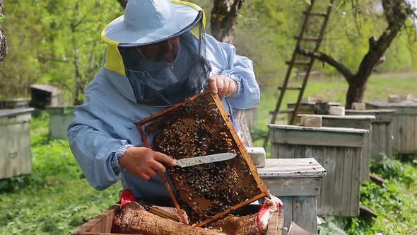
[[32, 99], [30, 106], [35, 108], [46, 108], [61, 105], [61, 90], [55, 86], [45, 84], [30, 85]]

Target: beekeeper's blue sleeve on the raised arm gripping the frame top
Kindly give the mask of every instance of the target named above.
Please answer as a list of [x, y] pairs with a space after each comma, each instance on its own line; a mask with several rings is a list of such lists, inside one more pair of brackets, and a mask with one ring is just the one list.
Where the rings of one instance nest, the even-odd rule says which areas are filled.
[[211, 75], [226, 75], [237, 82], [237, 93], [227, 98], [233, 108], [247, 109], [259, 103], [261, 96], [252, 60], [236, 55], [235, 46], [218, 42], [211, 35], [206, 35], [206, 57]]

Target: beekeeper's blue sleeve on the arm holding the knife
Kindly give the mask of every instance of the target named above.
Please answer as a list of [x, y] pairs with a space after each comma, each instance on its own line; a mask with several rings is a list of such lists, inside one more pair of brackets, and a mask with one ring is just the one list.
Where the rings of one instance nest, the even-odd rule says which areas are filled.
[[90, 96], [87, 93], [86, 103], [76, 108], [68, 127], [69, 145], [90, 185], [105, 190], [119, 179], [119, 171], [114, 171], [119, 167], [118, 163], [114, 166], [114, 153], [128, 143], [110, 136], [108, 127], [98, 118], [98, 113], [105, 115], [100, 110], [102, 105], [91, 101]]

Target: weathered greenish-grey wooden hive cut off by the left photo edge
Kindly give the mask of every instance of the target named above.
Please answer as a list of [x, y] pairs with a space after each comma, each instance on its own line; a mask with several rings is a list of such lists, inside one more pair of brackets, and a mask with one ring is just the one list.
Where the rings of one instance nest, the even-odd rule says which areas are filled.
[[29, 124], [33, 108], [0, 110], [0, 179], [32, 172]]

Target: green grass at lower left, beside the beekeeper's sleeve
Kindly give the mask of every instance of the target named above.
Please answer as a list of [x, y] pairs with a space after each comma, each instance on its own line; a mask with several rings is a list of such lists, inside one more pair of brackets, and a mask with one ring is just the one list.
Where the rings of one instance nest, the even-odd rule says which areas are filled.
[[33, 173], [0, 180], [0, 234], [69, 234], [118, 201], [119, 183], [94, 190], [68, 142], [48, 138], [44, 112], [30, 127]]

